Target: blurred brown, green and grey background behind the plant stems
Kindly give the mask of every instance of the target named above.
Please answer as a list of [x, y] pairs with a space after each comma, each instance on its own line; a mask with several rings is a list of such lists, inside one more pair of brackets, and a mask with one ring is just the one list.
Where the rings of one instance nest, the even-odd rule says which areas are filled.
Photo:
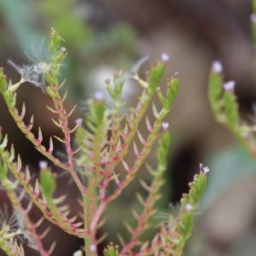
[[[96, 91], [105, 91], [104, 80], [114, 71], [129, 69], [144, 55], [149, 55], [150, 61], [159, 60], [162, 53], [170, 55], [166, 76], [178, 71], [182, 84], [168, 118], [172, 148], [161, 203], [171, 203], [172, 207], [161, 210], [173, 211], [203, 162], [211, 168], [209, 183], [184, 255], [256, 255], [256, 162], [229, 131], [215, 122], [207, 99], [211, 63], [220, 60], [225, 79], [236, 80], [243, 118], [253, 115], [256, 81], [250, 0], [0, 0], [0, 14], [0, 65], [13, 81], [19, 77], [7, 60], [26, 63], [25, 53], [34, 55], [33, 51], [40, 58], [49, 28], [61, 31], [69, 52], [62, 71], [69, 88], [67, 108], [74, 102], [79, 104], [73, 122], [83, 116], [86, 99]], [[131, 105], [137, 101], [137, 90], [136, 84], [125, 84], [124, 97]], [[44, 108], [49, 99], [41, 90], [30, 84], [22, 86], [18, 106], [22, 102], [26, 102], [27, 113], [34, 113], [45, 141], [58, 134]], [[43, 157], [17, 130], [2, 98], [0, 125], [36, 177], [38, 161]], [[61, 157], [61, 147], [58, 150]], [[67, 177], [60, 177], [59, 183], [67, 182]], [[68, 198], [76, 212], [73, 184], [69, 188], [60, 186], [58, 193], [67, 193], [67, 189], [73, 191], [68, 192]], [[135, 184], [132, 189], [140, 188]], [[114, 235], [123, 226], [116, 217], [120, 212], [129, 215], [135, 202], [129, 191], [123, 196], [109, 210], [108, 224], [101, 230], [108, 231], [108, 241], [118, 242]], [[0, 200], [1, 205], [7, 203], [3, 192]], [[32, 214], [34, 218], [40, 216], [36, 209]], [[46, 244], [58, 242], [54, 255], [72, 255], [82, 245], [55, 227], [47, 239]], [[27, 252], [35, 255], [29, 249]]]

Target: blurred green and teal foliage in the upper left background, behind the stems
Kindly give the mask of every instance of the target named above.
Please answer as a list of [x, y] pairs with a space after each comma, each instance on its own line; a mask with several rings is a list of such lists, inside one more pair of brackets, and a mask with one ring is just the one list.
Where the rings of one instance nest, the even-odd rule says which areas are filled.
[[[88, 86], [88, 74], [92, 69], [99, 64], [125, 68], [131, 65], [136, 56], [135, 30], [122, 22], [104, 28], [91, 26], [88, 17], [96, 7], [93, 3], [91, 6], [86, 4], [82, 5], [77, 0], [45, 0], [36, 3], [32, 0], [0, 0], [4, 26], [8, 28], [8, 33], [12, 33], [9, 35], [12, 38], [11, 46], [17, 49], [15, 58], [17, 55], [24, 58], [24, 52], [34, 57], [34, 51], [38, 51], [36, 45], [41, 44], [42, 35], [49, 31], [49, 27], [61, 31], [72, 52], [68, 55], [63, 75], [73, 84], [69, 95], [75, 97], [76, 101], [84, 99], [93, 90]], [[6, 47], [9, 47], [8, 43]]]

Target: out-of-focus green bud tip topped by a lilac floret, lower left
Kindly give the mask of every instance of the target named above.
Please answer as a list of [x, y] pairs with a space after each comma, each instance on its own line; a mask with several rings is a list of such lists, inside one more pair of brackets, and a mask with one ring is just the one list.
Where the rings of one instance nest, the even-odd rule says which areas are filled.
[[40, 172], [40, 187], [47, 199], [52, 198], [52, 195], [55, 192], [56, 183], [55, 176], [49, 169]]

